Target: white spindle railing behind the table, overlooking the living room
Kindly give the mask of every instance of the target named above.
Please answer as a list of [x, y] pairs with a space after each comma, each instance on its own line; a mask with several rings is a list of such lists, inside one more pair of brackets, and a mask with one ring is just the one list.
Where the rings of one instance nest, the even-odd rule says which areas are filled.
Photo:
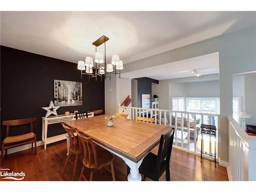
[[[119, 106], [119, 113], [131, 114], [128, 118], [133, 120], [136, 119], [136, 116], [154, 118], [154, 123], [156, 124], [174, 127], [174, 147], [196, 155], [200, 155], [201, 152], [201, 144], [198, 144], [198, 138], [201, 138], [201, 123], [216, 125], [216, 140], [209, 139], [205, 141], [204, 139], [203, 143], [205, 144], [205, 142], [209, 142], [208, 148], [210, 151], [210, 155], [214, 155], [215, 150], [211, 150], [211, 146], [215, 146], [217, 150], [216, 155], [218, 157], [218, 133], [220, 127], [219, 114], [194, 113], [161, 109], [145, 109], [134, 108], [130, 106]], [[216, 142], [216, 144], [212, 142]], [[212, 159], [210, 156], [204, 157]]]

